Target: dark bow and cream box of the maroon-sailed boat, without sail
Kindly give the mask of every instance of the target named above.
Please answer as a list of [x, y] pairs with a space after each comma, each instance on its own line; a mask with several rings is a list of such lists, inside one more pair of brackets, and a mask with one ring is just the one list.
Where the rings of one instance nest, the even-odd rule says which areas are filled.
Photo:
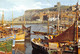
[[[48, 43], [46, 43], [46, 42], [41, 42], [40, 39], [36, 39], [35, 41], [34, 40], [35, 39], [31, 40], [33, 49], [39, 50], [40, 52], [43, 52], [45, 54], [48, 54], [48, 51], [50, 51], [50, 50], [57, 51], [59, 49], [57, 42], [53, 43], [53, 46], [55, 46], [55, 47], [52, 47], [51, 45], [48, 45]], [[49, 44], [51, 44], [51, 43], [49, 43]]]

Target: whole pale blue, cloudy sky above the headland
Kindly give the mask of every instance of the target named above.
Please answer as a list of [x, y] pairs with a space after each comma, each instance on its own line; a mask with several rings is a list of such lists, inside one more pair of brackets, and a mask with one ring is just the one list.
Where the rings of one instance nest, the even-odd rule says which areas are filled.
[[75, 5], [77, 0], [0, 0], [0, 20], [2, 11], [5, 20], [12, 20], [12, 11], [13, 17], [16, 18], [22, 16], [26, 10], [54, 7], [57, 2], [70, 6]]

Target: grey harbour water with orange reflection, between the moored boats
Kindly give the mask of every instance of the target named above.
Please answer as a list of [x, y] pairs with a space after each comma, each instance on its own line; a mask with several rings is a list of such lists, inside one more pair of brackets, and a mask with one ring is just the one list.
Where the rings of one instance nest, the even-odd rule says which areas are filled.
[[[43, 31], [47, 32], [47, 28], [44, 28], [43, 26], [47, 26], [47, 24], [27, 24], [26, 27], [31, 26], [31, 33], [32, 31]], [[21, 25], [14, 25], [14, 27], [21, 28]], [[39, 35], [31, 35], [32, 38], [42, 38], [43, 36]], [[31, 40], [30, 39], [30, 40]], [[30, 40], [25, 40], [25, 42], [17, 42], [15, 43], [15, 49], [13, 49], [13, 54], [43, 54], [42, 52], [36, 51], [32, 48]]]

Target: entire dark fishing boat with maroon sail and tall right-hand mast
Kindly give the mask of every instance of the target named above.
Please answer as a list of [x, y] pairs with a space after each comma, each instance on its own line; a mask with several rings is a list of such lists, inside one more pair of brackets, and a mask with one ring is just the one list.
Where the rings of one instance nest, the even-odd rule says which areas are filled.
[[[54, 35], [48, 35], [47, 39], [41, 39], [41, 38], [31, 39], [31, 44], [33, 49], [42, 51], [43, 53], [46, 54], [52, 52], [53, 53], [59, 52], [62, 54], [65, 53], [78, 54], [78, 22], [77, 21], [78, 21], [78, 13], [76, 14], [76, 20], [74, 21], [74, 23], [70, 25], [63, 32], [60, 32], [55, 37]], [[59, 24], [57, 30], [59, 31]]]

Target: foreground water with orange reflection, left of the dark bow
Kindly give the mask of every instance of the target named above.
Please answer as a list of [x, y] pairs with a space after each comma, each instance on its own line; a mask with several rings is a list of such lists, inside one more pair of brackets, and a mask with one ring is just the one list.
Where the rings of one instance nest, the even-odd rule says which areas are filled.
[[25, 42], [15, 42], [15, 47], [12, 49], [13, 54], [44, 54], [39, 50], [33, 49], [30, 40]]

